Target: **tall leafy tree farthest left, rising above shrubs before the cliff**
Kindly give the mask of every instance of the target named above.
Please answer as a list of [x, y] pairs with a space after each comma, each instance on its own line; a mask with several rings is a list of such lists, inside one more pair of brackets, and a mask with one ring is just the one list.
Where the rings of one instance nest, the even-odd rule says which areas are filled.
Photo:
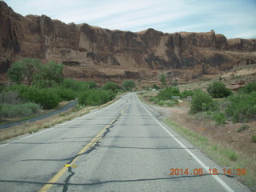
[[30, 86], [34, 82], [34, 77], [38, 74], [38, 67], [41, 62], [34, 58], [23, 58], [21, 61], [14, 62], [13, 66], [7, 71], [7, 76], [12, 82], [17, 84], [26, 78]]

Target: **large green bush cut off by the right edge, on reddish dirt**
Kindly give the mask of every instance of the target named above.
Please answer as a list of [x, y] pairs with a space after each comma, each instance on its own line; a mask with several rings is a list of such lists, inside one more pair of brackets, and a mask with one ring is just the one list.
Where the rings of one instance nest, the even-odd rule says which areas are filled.
[[256, 92], [232, 95], [225, 112], [233, 122], [249, 122], [256, 119]]

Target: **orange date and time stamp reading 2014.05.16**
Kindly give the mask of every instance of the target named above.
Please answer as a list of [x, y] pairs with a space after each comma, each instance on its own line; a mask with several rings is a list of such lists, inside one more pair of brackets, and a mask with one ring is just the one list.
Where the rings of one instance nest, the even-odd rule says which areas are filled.
[[228, 174], [228, 175], [245, 175], [246, 174], [246, 169], [245, 168], [238, 168], [238, 169], [231, 169], [231, 168], [223, 168], [223, 169], [208, 169], [204, 170], [202, 168], [194, 168], [194, 169], [183, 169], [183, 168], [171, 168], [170, 169], [170, 174], [169, 175], [203, 175], [203, 174]]

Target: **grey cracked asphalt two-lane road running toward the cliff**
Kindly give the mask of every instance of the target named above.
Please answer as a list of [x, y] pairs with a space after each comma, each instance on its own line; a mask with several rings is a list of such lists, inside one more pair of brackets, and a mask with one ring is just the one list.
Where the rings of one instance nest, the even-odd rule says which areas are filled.
[[209, 175], [214, 168], [222, 169], [131, 93], [2, 144], [0, 191], [249, 191], [234, 178]]

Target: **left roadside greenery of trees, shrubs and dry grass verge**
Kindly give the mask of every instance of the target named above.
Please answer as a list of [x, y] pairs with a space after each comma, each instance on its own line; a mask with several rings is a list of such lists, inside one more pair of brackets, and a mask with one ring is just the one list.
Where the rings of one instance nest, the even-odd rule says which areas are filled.
[[1, 141], [86, 114], [95, 107], [110, 103], [118, 94], [132, 90], [135, 86], [130, 80], [123, 82], [121, 87], [115, 82], [98, 86], [92, 81], [79, 82], [72, 78], [63, 78], [61, 63], [42, 64], [33, 58], [14, 62], [7, 76], [12, 83], [0, 86], [1, 125], [47, 114], [58, 110], [62, 103], [74, 99], [78, 100], [78, 105], [47, 120], [0, 130]]

